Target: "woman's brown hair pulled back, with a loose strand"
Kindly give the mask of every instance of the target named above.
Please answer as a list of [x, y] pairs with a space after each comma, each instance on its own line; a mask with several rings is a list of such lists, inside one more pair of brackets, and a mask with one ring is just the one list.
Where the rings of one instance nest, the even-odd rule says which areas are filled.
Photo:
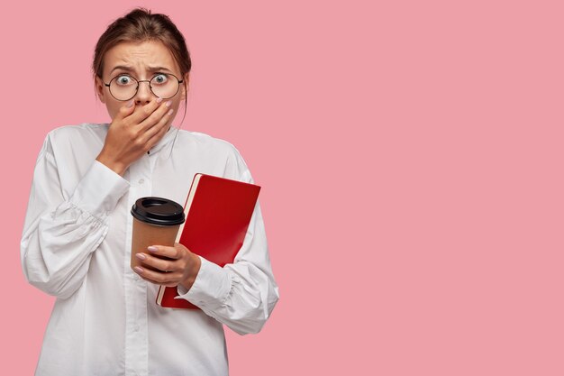
[[[102, 78], [105, 52], [121, 42], [142, 41], [162, 42], [180, 68], [180, 79], [183, 79], [186, 73], [190, 72], [192, 60], [190, 60], [190, 53], [186, 48], [184, 36], [178, 31], [177, 26], [170, 21], [166, 14], [151, 14], [149, 9], [138, 7], [111, 23], [98, 39], [94, 51], [94, 61], [92, 62], [92, 77], [95, 80], [96, 76]], [[184, 88], [186, 96], [184, 98], [182, 121], [186, 116], [186, 79], [184, 79]]]

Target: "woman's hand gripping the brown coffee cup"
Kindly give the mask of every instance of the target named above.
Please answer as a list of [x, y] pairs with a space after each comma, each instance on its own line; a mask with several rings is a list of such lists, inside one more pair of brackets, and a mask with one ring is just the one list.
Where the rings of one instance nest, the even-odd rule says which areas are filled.
[[179, 284], [186, 289], [192, 287], [202, 264], [196, 253], [190, 252], [181, 243], [175, 243], [173, 247], [151, 245], [147, 251], [139, 252], [136, 256], [142, 264], [157, 271], [135, 267], [134, 271], [143, 280], [167, 287], [175, 287]]

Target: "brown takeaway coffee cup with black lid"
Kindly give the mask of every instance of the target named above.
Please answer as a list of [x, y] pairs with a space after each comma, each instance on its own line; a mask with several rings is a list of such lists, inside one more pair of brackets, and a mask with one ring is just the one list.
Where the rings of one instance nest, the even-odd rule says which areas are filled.
[[141, 197], [132, 206], [132, 269], [136, 266], [153, 269], [135, 257], [148, 252], [150, 245], [173, 246], [178, 228], [185, 221], [184, 207], [162, 197]]

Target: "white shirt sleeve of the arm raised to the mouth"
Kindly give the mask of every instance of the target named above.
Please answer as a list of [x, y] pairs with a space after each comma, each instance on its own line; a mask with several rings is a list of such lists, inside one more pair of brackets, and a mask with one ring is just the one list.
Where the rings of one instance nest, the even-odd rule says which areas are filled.
[[59, 179], [64, 169], [48, 135], [33, 172], [21, 242], [26, 280], [58, 298], [70, 297], [85, 280], [92, 252], [107, 234], [108, 214], [130, 186], [94, 160], [65, 198]]

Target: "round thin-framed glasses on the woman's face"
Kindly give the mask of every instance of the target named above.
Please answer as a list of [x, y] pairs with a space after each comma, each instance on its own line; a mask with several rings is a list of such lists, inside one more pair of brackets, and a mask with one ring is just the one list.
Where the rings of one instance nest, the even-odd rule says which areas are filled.
[[177, 95], [178, 88], [183, 80], [170, 73], [158, 73], [153, 78], [142, 80], [122, 73], [112, 78], [110, 83], [104, 83], [104, 85], [110, 88], [110, 94], [115, 99], [126, 101], [137, 94], [140, 82], [149, 82], [150, 91], [155, 96], [168, 99]]

